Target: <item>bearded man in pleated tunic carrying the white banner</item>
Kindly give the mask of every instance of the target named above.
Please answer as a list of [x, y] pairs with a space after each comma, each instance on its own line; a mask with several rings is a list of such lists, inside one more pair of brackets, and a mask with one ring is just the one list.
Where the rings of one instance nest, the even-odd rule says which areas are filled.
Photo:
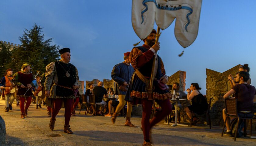
[[[151, 145], [150, 129], [172, 110], [172, 105], [169, 102], [171, 93], [169, 93], [165, 85], [168, 78], [165, 76], [162, 59], [156, 54], [156, 51], [160, 49], [160, 45], [159, 43], [155, 43], [155, 39], [156, 31], [152, 30], [149, 36], [143, 40], [143, 46], [134, 47], [131, 50], [129, 58], [135, 71], [131, 77], [125, 97], [125, 100], [132, 104], [141, 103], [142, 105], [141, 125], [144, 135], [143, 145], [149, 146]], [[154, 58], [157, 58], [156, 75], [153, 82], [154, 87], [152, 91], [149, 91], [149, 81]], [[156, 116], [149, 122], [153, 99], [161, 106], [162, 110], [157, 112]]]

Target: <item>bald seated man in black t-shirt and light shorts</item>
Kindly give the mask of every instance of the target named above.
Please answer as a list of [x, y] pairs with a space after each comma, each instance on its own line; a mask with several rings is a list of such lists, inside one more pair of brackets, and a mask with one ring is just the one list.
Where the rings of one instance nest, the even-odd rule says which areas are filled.
[[[95, 101], [97, 105], [102, 105], [103, 104], [103, 109], [106, 108], [107, 103], [102, 100], [103, 96], [108, 97], [108, 92], [107, 90], [103, 87], [103, 82], [99, 82], [98, 86], [95, 86], [93, 88], [93, 94], [95, 95]], [[99, 111], [99, 114], [102, 115], [102, 110]], [[97, 109], [96, 109], [97, 110]], [[95, 113], [95, 112], [94, 112]]]

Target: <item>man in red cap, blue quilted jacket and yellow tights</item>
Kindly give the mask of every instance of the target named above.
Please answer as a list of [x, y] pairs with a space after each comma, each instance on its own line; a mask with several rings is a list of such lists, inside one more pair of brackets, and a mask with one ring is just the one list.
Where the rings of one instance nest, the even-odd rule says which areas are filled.
[[[130, 55], [130, 52], [124, 53], [124, 57], [123, 57], [124, 61], [119, 64], [116, 64], [111, 72], [112, 79], [117, 83], [116, 90], [118, 91], [118, 97], [119, 97], [119, 104], [117, 105], [116, 111], [115, 113], [113, 113], [112, 119], [111, 119], [113, 123], [115, 123], [116, 121], [117, 113], [119, 113], [123, 109], [126, 103], [126, 101], [124, 100], [126, 89], [130, 82], [131, 76], [134, 72], [133, 67], [130, 65], [129, 55]], [[127, 102], [126, 122], [124, 125], [129, 127], [136, 127], [130, 121], [132, 108], [133, 108], [133, 105]], [[111, 113], [108, 113], [108, 115], [109, 114]]]

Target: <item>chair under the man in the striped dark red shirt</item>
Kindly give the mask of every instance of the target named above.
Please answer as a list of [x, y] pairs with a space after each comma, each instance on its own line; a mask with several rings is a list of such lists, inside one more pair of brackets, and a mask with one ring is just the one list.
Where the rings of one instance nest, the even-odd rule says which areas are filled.
[[[224, 126], [223, 126], [223, 130], [222, 130], [221, 136], [223, 136], [228, 116], [237, 118], [237, 123], [239, 123], [239, 121], [243, 120], [243, 119], [244, 120], [247, 120], [247, 119], [250, 120], [251, 119], [251, 125], [252, 125], [253, 117], [251, 117], [251, 118], [243, 118], [243, 117], [240, 117], [238, 115], [237, 99], [235, 99], [235, 98], [225, 99], [225, 106], [226, 106], [227, 117], [226, 117], [225, 122], [224, 122]], [[246, 137], [246, 135], [247, 135], [246, 127], [247, 127], [247, 125], [246, 125], [246, 121], [245, 121], [244, 122], [244, 137]], [[236, 130], [235, 130], [236, 132], [235, 132], [234, 141], [236, 141], [237, 130], [238, 130], [238, 126], [236, 126]], [[251, 130], [252, 130], [252, 128], [251, 128]], [[250, 132], [250, 136], [251, 136], [251, 132]]]

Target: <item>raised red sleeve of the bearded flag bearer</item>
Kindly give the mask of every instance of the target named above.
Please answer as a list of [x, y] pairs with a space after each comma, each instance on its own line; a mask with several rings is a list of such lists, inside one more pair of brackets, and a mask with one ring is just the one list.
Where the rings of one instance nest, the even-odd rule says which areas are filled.
[[134, 69], [141, 68], [144, 64], [151, 60], [154, 56], [154, 53], [151, 50], [147, 50], [142, 53], [142, 51], [138, 48], [133, 48], [130, 53], [130, 62]]

